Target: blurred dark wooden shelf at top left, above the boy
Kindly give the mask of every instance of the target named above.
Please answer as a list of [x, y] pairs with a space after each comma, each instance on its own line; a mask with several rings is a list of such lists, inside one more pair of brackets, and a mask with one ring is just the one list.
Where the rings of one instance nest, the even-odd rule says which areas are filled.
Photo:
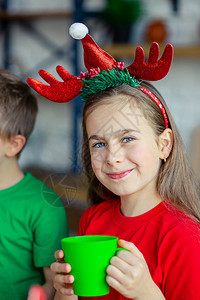
[[71, 12], [67, 11], [47, 11], [47, 12], [19, 12], [12, 13], [6, 11], [0, 11], [1, 20], [23, 20], [23, 19], [39, 19], [39, 18], [63, 18], [72, 16]]

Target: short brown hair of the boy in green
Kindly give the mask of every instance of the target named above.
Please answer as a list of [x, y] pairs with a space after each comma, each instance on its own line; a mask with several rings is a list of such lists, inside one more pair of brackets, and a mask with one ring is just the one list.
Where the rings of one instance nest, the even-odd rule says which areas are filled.
[[21, 134], [28, 140], [38, 112], [36, 97], [27, 84], [0, 69], [0, 136]]

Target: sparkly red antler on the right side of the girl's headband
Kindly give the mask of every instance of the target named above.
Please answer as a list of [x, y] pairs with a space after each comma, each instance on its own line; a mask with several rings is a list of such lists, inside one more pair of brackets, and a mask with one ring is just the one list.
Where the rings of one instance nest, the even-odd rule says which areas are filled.
[[135, 60], [128, 66], [128, 70], [131, 76], [135, 76], [138, 79], [144, 80], [160, 80], [165, 77], [170, 69], [173, 58], [173, 46], [168, 44], [165, 47], [162, 57], [158, 60], [159, 45], [154, 42], [151, 45], [149, 58], [147, 62], [144, 62], [144, 50], [142, 47], [137, 47]]

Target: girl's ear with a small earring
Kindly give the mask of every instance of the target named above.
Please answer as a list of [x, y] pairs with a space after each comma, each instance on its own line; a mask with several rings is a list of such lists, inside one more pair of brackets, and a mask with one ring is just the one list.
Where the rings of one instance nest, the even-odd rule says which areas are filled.
[[160, 159], [167, 159], [173, 146], [173, 133], [170, 128], [166, 128], [159, 136], [158, 147]]

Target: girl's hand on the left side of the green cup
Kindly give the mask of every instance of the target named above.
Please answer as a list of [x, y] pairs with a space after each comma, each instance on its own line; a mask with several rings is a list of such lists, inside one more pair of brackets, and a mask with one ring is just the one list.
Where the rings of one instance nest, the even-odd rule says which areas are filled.
[[54, 288], [62, 295], [71, 296], [74, 295], [72, 283], [74, 282], [74, 276], [68, 275], [71, 271], [71, 266], [64, 262], [64, 252], [58, 250], [55, 253], [57, 262], [51, 265], [51, 270], [55, 273], [54, 276]]

